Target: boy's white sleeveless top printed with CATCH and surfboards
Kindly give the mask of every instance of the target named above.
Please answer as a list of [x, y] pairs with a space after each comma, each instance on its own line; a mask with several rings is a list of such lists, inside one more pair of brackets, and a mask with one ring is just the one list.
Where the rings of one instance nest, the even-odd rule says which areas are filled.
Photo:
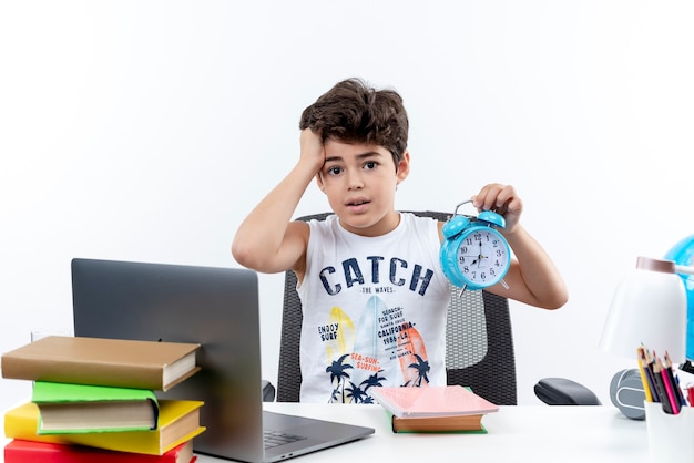
[[437, 222], [400, 214], [384, 236], [309, 223], [302, 402], [370, 403], [375, 385], [446, 384], [446, 309]]

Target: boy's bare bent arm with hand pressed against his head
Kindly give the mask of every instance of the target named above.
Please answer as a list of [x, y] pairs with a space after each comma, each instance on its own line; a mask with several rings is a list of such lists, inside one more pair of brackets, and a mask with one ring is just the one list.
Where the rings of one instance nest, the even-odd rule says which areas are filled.
[[232, 254], [244, 267], [267, 274], [303, 269], [308, 225], [292, 222], [304, 192], [325, 162], [320, 136], [302, 131], [300, 157], [282, 182], [248, 214], [238, 227]]

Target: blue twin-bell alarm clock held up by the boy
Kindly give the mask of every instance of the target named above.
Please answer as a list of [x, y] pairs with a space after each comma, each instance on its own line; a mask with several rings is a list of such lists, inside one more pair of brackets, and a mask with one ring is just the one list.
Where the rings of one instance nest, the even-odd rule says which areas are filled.
[[443, 241], [439, 254], [446, 277], [457, 287], [470, 290], [484, 289], [503, 281], [511, 265], [511, 249], [497, 229], [506, 227], [502, 215], [483, 210], [477, 217], [458, 214], [443, 224]]

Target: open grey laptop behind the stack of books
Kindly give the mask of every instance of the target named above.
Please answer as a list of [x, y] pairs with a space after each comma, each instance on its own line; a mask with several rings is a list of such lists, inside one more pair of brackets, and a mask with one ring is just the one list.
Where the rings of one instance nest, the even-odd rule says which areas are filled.
[[[205, 402], [201, 424], [207, 429], [193, 441], [196, 453], [275, 462], [374, 433], [372, 428], [263, 410], [253, 270], [75, 258], [72, 297], [75, 336], [202, 344], [202, 370], [157, 391], [162, 399]], [[266, 443], [267, 435], [274, 438]]]

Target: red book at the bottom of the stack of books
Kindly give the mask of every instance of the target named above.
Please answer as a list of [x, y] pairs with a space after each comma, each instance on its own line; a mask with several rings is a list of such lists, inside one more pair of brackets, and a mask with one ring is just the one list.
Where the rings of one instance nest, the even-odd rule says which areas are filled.
[[193, 463], [196, 459], [193, 441], [184, 442], [162, 455], [19, 439], [4, 446], [4, 463]]

